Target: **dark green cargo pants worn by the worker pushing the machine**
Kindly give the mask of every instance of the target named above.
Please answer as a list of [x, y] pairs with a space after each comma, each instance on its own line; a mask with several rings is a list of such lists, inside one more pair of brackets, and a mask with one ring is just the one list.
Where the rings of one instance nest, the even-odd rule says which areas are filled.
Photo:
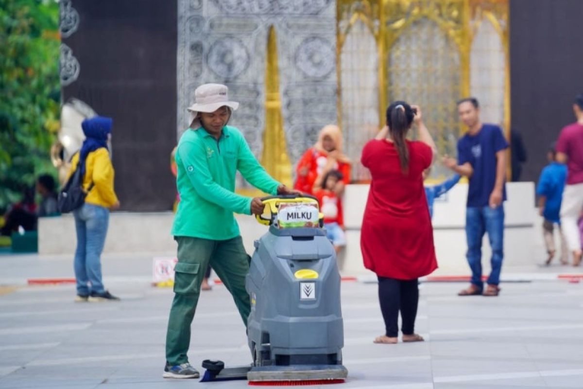
[[202, 279], [209, 266], [233, 296], [243, 323], [251, 311], [245, 290], [249, 256], [240, 236], [229, 240], [209, 240], [177, 236], [178, 262], [174, 268], [174, 301], [166, 334], [166, 361], [170, 365], [188, 362], [191, 324], [200, 295]]

